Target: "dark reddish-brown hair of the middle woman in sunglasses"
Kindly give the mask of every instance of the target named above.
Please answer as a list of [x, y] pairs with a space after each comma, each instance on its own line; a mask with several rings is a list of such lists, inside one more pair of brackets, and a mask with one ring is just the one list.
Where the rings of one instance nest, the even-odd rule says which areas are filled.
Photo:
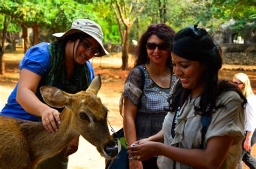
[[152, 24], [149, 27], [147, 27], [146, 32], [142, 35], [142, 37], [139, 40], [139, 45], [137, 46], [137, 52], [136, 56], [137, 59], [134, 62], [134, 67], [146, 64], [147, 62], [147, 49], [146, 44], [147, 40], [152, 36], [156, 35], [158, 38], [163, 40], [165, 43], [167, 43], [170, 46], [170, 57], [167, 59], [167, 66], [171, 67], [171, 48], [173, 43], [173, 37], [175, 35], [175, 32], [173, 29], [171, 29], [170, 26], [166, 24]]

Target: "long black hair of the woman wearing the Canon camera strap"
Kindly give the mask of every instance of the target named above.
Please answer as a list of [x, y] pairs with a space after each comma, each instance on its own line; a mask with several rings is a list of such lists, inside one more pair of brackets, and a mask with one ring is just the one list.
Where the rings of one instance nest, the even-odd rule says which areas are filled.
[[[174, 37], [172, 52], [179, 57], [199, 61], [200, 64], [206, 65], [204, 72], [204, 91], [200, 95], [200, 107], [194, 106], [194, 109], [199, 114], [200, 112], [205, 112], [208, 103], [211, 103], [211, 110], [216, 108], [216, 98], [223, 91], [233, 90], [243, 98], [244, 103], [246, 102], [246, 98], [237, 87], [227, 81], [219, 82], [218, 72], [222, 66], [221, 50], [218, 45], [213, 43], [211, 36], [205, 29], [198, 29], [197, 25], [194, 25], [180, 30]], [[183, 92], [188, 95], [190, 90], [183, 88], [179, 81], [174, 93], [168, 98], [170, 103], [169, 110], [175, 111], [177, 109], [179, 97]]]

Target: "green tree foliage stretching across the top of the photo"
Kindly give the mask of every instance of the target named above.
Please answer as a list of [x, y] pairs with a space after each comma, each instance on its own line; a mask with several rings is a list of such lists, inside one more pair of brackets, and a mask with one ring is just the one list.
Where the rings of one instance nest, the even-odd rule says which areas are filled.
[[[117, 0], [0, 0], [0, 29], [3, 29], [3, 17], [11, 16], [9, 32], [18, 32], [21, 25], [32, 26], [36, 23], [41, 30], [49, 34], [63, 32], [70, 28], [73, 20], [88, 18], [102, 26], [104, 41], [120, 43], [117, 19], [111, 2]], [[256, 0], [125, 0], [126, 11], [130, 5], [139, 9], [144, 5], [143, 12], [136, 16], [131, 29], [130, 40], [141, 36], [147, 26], [161, 22], [161, 15], [166, 24], [174, 30], [193, 24], [206, 27], [211, 31], [220, 29], [220, 25], [233, 18], [235, 24], [230, 29], [238, 32], [255, 30]], [[161, 11], [165, 10], [165, 13]], [[161, 13], [161, 15], [160, 15]], [[131, 16], [132, 18], [133, 16]]]

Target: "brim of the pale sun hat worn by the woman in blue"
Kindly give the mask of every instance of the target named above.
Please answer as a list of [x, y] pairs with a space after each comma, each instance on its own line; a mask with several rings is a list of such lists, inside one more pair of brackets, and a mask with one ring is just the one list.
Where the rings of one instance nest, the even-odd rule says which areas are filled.
[[52, 36], [57, 38], [58, 40], [62, 40], [66, 36], [69, 36], [70, 34], [73, 34], [73, 33], [86, 33], [86, 34], [89, 34], [89, 36], [91, 36], [93, 39], [95, 39], [101, 47], [100, 54], [97, 57], [102, 57], [103, 55], [109, 54], [109, 52], [107, 52], [105, 50], [102, 41], [100, 41], [97, 37], [93, 36], [93, 34], [91, 34], [90, 32], [86, 32], [86, 31], [71, 28], [66, 32], [54, 33], [54, 34], [52, 34]]

